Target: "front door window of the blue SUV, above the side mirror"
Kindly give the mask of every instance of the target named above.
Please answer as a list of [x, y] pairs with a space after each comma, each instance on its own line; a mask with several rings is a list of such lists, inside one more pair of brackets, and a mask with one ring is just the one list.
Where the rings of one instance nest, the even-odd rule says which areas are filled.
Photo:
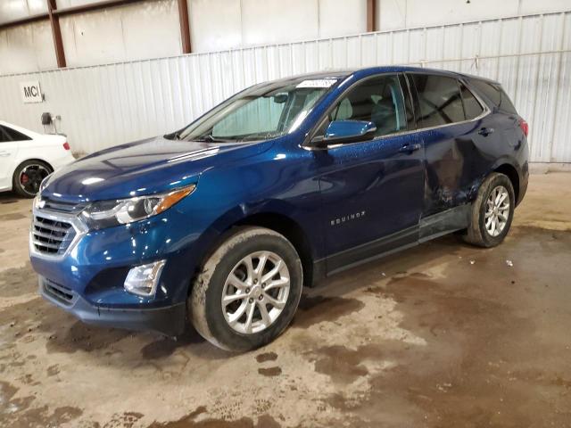
[[[404, 97], [396, 75], [370, 78], [353, 87], [329, 114], [329, 120], [364, 120], [377, 125], [375, 136], [405, 130]], [[319, 133], [325, 132], [321, 128]]]

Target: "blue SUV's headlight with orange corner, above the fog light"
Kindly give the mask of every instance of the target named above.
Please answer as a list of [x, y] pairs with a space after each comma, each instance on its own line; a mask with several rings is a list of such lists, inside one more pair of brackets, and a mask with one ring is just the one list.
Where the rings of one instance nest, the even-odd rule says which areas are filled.
[[161, 214], [162, 211], [170, 209], [185, 196], [193, 193], [195, 187], [196, 185], [189, 185], [169, 193], [94, 202], [83, 210], [81, 215], [90, 229], [126, 225]]

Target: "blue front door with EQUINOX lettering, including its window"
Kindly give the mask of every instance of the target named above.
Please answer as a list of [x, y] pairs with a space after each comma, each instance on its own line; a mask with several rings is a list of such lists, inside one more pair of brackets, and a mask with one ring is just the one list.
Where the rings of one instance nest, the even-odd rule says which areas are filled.
[[329, 272], [418, 240], [424, 147], [414, 132], [407, 133], [410, 104], [404, 94], [396, 74], [367, 78], [329, 113], [328, 120], [377, 126], [371, 141], [314, 152]]

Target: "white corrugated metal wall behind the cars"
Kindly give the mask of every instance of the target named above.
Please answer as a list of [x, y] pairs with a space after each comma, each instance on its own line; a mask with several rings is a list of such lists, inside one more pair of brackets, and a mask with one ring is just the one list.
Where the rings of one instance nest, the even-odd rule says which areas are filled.
[[[368, 33], [0, 77], [0, 118], [41, 130], [61, 115], [93, 152], [182, 127], [245, 86], [313, 70], [412, 64], [500, 80], [531, 127], [532, 160], [571, 162], [571, 12]], [[45, 103], [24, 104], [39, 80]]]

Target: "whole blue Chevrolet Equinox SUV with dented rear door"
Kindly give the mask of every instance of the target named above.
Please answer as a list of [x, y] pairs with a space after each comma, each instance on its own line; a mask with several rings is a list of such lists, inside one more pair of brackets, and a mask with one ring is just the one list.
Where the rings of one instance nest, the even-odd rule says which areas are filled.
[[86, 323], [192, 324], [252, 350], [285, 330], [304, 285], [452, 232], [501, 243], [527, 130], [498, 82], [450, 71], [255, 85], [46, 177], [29, 235], [39, 290]]

